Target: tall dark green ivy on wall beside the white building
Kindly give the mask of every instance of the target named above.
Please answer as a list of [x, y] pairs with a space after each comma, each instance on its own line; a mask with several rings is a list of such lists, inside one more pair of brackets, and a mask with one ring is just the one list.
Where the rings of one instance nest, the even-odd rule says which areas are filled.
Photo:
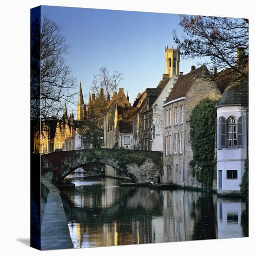
[[206, 190], [212, 189], [215, 161], [215, 118], [218, 101], [205, 98], [190, 116], [190, 141], [193, 150], [193, 175]]

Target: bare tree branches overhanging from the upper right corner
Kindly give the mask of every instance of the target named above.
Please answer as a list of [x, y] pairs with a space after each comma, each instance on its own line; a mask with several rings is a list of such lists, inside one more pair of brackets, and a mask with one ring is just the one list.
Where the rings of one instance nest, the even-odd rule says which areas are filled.
[[245, 54], [236, 55], [238, 47], [248, 54], [248, 20], [209, 16], [180, 16], [179, 25], [184, 35], [179, 37], [173, 31], [174, 40], [181, 54], [186, 58], [201, 58], [201, 63], [207, 67], [217, 67], [218, 70], [230, 68], [232, 76], [248, 79], [248, 72], [243, 68], [247, 61]]

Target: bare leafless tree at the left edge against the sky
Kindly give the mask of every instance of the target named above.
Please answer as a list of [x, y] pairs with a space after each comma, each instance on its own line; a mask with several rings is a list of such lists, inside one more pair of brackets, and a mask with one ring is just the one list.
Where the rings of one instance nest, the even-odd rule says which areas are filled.
[[[69, 46], [61, 34], [61, 27], [46, 16], [39, 19], [33, 22], [31, 29], [31, 42], [34, 44], [31, 48], [31, 107], [40, 108], [41, 118], [59, 118], [65, 103], [73, 102], [74, 93], [70, 90], [76, 87], [76, 80], [72, 77], [71, 68], [65, 64], [64, 55]], [[38, 56], [38, 51], [40, 60], [34, 57]]]

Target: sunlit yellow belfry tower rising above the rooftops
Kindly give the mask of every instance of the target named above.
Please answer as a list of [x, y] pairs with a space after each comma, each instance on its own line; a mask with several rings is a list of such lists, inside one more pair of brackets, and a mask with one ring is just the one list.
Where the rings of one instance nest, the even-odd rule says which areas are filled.
[[173, 74], [179, 74], [180, 51], [177, 49], [165, 47], [165, 71], [171, 77]]

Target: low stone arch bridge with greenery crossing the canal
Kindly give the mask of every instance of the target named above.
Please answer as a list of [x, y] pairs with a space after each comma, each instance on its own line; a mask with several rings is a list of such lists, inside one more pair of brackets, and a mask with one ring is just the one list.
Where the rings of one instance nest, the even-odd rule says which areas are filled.
[[161, 152], [130, 149], [81, 149], [41, 155], [41, 174], [58, 183], [75, 169], [103, 163], [124, 172], [134, 182], [157, 182], [163, 170]]

